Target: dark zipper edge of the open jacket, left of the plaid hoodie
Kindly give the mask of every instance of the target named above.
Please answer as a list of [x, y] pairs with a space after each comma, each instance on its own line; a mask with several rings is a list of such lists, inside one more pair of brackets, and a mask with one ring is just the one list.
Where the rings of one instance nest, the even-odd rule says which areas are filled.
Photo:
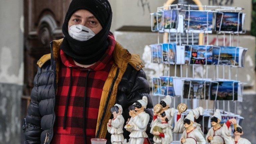
[[[56, 91], [55, 91], [55, 87], [54, 87], [54, 83], [55, 83], [55, 73], [53, 72], [53, 50], [52, 50], [52, 42], [50, 42], [50, 50], [51, 50], [51, 69], [52, 69], [52, 73], [53, 73], [53, 82], [52, 82], [52, 85], [53, 85], [53, 110], [52, 110], [52, 114], [53, 114], [53, 123], [52, 123], [52, 133], [51, 133], [51, 138], [49, 140], [48, 138], [48, 142], [46, 144], [49, 144], [51, 143], [52, 141], [52, 138], [53, 138], [53, 126], [54, 126], [54, 123], [55, 123], [55, 111], [54, 111], [54, 108], [55, 108], [55, 95], [56, 95]], [[49, 137], [49, 136], [48, 136]]]

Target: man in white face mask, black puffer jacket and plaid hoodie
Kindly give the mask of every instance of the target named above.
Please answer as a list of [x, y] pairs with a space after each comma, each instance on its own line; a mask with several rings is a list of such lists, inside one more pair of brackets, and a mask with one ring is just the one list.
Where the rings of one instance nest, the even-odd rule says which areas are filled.
[[[106, 127], [110, 108], [120, 104], [127, 121], [128, 106], [143, 96], [152, 120], [144, 65], [115, 41], [111, 21], [107, 0], [72, 0], [64, 39], [52, 41], [51, 53], [37, 62], [24, 124], [26, 144], [89, 144], [95, 137], [111, 143]], [[123, 135], [129, 139], [127, 131]]]

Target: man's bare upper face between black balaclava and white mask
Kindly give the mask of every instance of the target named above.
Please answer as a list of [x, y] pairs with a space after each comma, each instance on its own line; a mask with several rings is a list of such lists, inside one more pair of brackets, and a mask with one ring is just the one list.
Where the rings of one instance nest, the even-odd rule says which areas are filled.
[[80, 9], [74, 12], [68, 21], [69, 27], [78, 24], [90, 28], [95, 34], [99, 33], [102, 30], [100, 22], [91, 12], [85, 9]]

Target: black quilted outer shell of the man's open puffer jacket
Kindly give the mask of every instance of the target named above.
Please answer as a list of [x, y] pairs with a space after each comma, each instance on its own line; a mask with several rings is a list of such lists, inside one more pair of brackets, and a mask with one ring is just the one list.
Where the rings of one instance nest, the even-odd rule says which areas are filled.
[[[56, 60], [53, 58], [51, 42], [51, 57], [43, 64], [38, 64], [38, 71], [34, 78], [34, 87], [31, 91], [31, 102], [27, 109], [27, 116], [23, 125], [25, 133], [25, 144], [50, 143], [53, 138], [53, 127], [55, 124], [55, 94], [56, 82]], [[145, 72], [136, 70], [128, 64], [123, 77], [117, 88], [116, 103], [123, 107], [123, 117], [127, 121], [129, 116], [128, 107], [143, 96], [148, 97], [148, 105], [145, 110], [150, 115], [147, 134], [152, 141], [153, 136], [149, 133], [152, 121], [152, 100], [149, 96], [150, 87], [146, 80]], [[125, 125], [125, 124], [124, 124]], [[124, 137], [129, 139], [129, 132], [124, 129]], [[110, 143], [110, 134], [106, 139]]]

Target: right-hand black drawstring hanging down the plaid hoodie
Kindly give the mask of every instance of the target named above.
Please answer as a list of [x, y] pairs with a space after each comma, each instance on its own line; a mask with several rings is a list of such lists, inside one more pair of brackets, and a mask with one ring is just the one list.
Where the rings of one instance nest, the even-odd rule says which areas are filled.
[[83, 107], [83, 134], [84, 134], [84, 143], [86, 144], [86, 120], [85, 120], [85, 108], [86, 108], [86, 97], [87, 97], [87, 80], [89, 77], [91, 70], [88, 70], [86, 74], [86, 79], [85, 79], [85, 90], [84, 90], [84, 107]]

